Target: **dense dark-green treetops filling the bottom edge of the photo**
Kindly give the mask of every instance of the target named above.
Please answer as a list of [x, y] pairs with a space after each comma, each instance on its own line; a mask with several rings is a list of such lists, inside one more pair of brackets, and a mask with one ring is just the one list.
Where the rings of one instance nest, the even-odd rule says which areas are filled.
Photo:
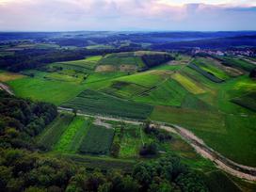
[[26, 192], [208, 191], [200, 174], [175, 156], [137, 164], [132, 173], [88, 170], [38, 152], [0, 148], [0, 188]]

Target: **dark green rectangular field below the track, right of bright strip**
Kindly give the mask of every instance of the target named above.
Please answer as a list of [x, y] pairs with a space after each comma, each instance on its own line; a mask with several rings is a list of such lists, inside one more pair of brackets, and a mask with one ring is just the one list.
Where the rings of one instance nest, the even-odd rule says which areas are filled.
[[92, 125], [80, 144], [79, 152], [83, 154], [108, 154], [115, 130]]

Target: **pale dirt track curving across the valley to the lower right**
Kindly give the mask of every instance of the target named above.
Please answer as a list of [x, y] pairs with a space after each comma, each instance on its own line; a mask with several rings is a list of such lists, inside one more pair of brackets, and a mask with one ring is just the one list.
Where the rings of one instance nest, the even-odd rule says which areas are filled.
[[[58, 107], [58, 111], [59, 112], [66, 111], [66, 112], [72, 113], [72, 109], [63, 108], [63, 107]], [[139, 120], [124, 120], [120, 118], [105, 117], [101, 115], [88, 115], [80, 112], [77, 113], [77, 115], [96, 118], [99, 120], [120, 121], [120, 122], [135, 124], [135, 125], [143, 124], [143, 122]], [[204, 158], [211, 160], [216, 165], [217, 168], [220, 168], [238, 178], [245, 179], [248, 181], [253, 181], [253, 182], [256, 181], [256, 168], [240, 165], [224, 157], [220, 153], [208, 147], [203, 142], [203, 140], [200, 139], [198, 136], [195, 136], [192, 132], [188, 131], [187, 129], [184, 129], [183, 127], [180, 127], [177, 125], [166, 125], [161, 122], [155, 122], [155, 123], [161, 124], [160, 126], [158, 126], [160, 129], [164, 129], [168, 132], [181, 136], [188, 144], [190, 144], [195, 149], [196, 152], [198, 152]]]

